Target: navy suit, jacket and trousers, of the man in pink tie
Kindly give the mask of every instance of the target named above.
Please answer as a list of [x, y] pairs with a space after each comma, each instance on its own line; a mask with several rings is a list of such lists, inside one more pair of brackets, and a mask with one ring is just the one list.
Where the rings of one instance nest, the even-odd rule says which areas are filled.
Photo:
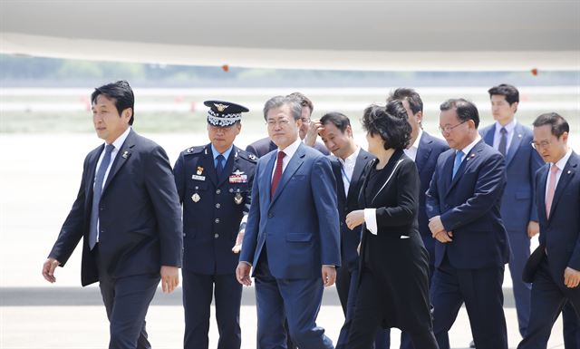
[[540, 246], [527, 266], [534, 274], [532, 308], [527, 334], [518, 349], [546, 348], [552, 326], [566, 300], [574, 305], [576, 312], [580, 309], [580, 287], [568, 288], [564, 284], [566, 267], [580, 270], [580, 157], [573, 151], [566, 162], [549, 218], [546, 217], [548, 172], [549, 165], [536, 172]]

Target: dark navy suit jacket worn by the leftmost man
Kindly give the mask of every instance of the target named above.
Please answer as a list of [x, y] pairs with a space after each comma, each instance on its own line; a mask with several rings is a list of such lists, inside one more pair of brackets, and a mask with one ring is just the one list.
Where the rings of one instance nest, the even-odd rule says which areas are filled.
[[[88, 241], [92, 187], [103, 149], [85, 158], [81, 188], [49, 255], [64, 266], [83, 238], [82, 286], [99, 280]], [[130, 131], [112, 162], [99, 207], [99, 255], [112, 277], [181, 267], [179, 199], [167, 154], [158, 144]]]

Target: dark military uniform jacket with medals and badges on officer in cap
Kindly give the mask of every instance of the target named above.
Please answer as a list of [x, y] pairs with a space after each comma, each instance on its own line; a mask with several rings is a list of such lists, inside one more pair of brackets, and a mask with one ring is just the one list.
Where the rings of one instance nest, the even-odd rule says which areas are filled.
[[251, 201], [256, 156], [236, 146], [217, 178], [211, 144], [183, 150], [174, 175], [183, 205], [183, 268], [204, 275], [236, 272], [232, 252]]

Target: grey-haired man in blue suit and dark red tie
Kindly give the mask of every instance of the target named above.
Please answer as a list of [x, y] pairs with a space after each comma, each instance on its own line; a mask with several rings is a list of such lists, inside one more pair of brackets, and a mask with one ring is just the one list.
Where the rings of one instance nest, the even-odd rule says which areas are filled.
[[254, 268], [260, 348], [285, 346], [285, 318], [298, 347], [333, 348], [316, 316], [341, 264], [336, 183], [330, 161], [298, 138], [301, 110], [298, 100], [283, 96], [264, 108], [278, 150], [257, 162], [236, 271], [249, 286]]

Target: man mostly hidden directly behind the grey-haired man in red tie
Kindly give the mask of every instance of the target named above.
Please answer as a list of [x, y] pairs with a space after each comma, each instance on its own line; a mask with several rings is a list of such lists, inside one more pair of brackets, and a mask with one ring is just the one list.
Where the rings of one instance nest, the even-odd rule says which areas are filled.
[[[330, 152], [324, 147], [324, 144], [316, 141], [317, 128], [314, 126], [314, 122], [310, 119], [312, 111], [314, 111], [314, 104], [308, 97], [300, 92], [294, 92], [288, 95], [300, 101], [302, 105], [302, 113], [300, 114], [300, 120], [302, 125], [298, 134], [300, 139], [304, 141], [304, 144], [313, 147], [315, 150], [322, 152], [324, 155], [330, 155]], [[255, 141], [246, 147], [246, 151], [251, 152], [258, 158], [263, 157], [268, 152], [278, 149], [275, 142], [269, 137], [263, 138], [261, 140]]]

